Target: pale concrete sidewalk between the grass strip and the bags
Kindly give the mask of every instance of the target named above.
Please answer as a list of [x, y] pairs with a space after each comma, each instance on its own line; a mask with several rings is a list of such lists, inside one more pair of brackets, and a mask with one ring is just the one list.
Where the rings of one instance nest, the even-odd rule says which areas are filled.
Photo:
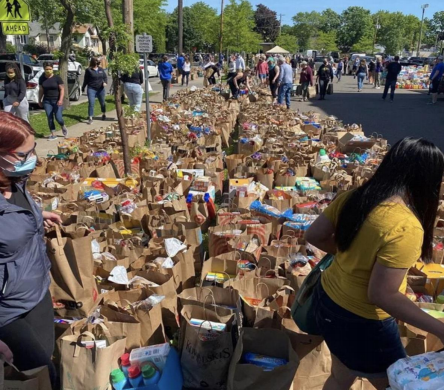
[[[192, 87], [195, 85], [196, 87], [202, 87], [203, 86], [203, 79], [198, 78], [196, 80], [193, 80], [189, 82], [188, 87]], [[150, 97], [150, 103], [161, 103], [162, 102], [162, 84], [159, 82], [151, 83], [151, 88], [153, 89], [152, 92], [157, 92], [155, 95]], [[170, 93], [173, 95], [177, 91], [181, 90], [182, 87], [180, 84], [173, 84], [170, 89]], [[127, 105], [128, 99], [125, 99]], [[142, 103], [142, 111], [145, 110], [145, 101]], [[94, 117], [94, 121], [91, 125], [88, 125], [87, 123], [87, 114], [85, 112], [85, 119], [77, 123], [76, 125], [68, 127], [68, 137], [80, 137], [83, 133], [89, 130], [93, 129], [99, 129], [101, 127], [106, 127], [110, 123], [117, 121], [117, 114], [116, 110], [108, 111], [106, 113], [106, 121], [102, 121], [101, 117]], [[56, 140], [48, 141], [47, 138], [37, 138], [37, 154], [41, 157], [46, 157], [48, 153], [57, 153], [57, 144], [63, 140], [63, 136], [61, 135], [61, 131], [57, 131], [56, 135], [58, 135], [58, 138]]]

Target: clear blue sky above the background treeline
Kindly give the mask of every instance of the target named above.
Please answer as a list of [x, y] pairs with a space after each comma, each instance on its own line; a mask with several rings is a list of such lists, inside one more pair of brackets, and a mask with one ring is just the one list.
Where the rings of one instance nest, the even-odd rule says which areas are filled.
[[[168, 12], [171, 12], [177, 6], [177, 0], [167, 0], [168, 6], [166, 7]], [[192, 5], [199, 0], [183, 0], [184, 6]], [[206, 4], [213, 8], [216, 8], [220, 12], [220, 0], [202, 0]], [[228, 0], [225, 0], [227, 4]], [[278, 14], [282, 14], [283, 24], [293, 24], [291, 18], [298, 12], [321, 12], [326, 8], [331, 8], [337, 13], [341, 13], [343, 10], [351, 6], [356, 6], [356, 0], [315, 0], [315, 1], [302, 1], [302, 0], [250, 0], [253, 6], [258, 4], [264, 4], [276, 11]], [[372, 13], [379, 10], [390, 12], [402, 12], [404, 14], [413, 14], [418, 17], [422, 15], [422, 4], [429, 4], [429, 7], [425, 11], [425, 17], [431, 18], [435, 12], [444, 11], [443, 0], [371, 0], [363, 2], [362, 7], [369, 9]]]

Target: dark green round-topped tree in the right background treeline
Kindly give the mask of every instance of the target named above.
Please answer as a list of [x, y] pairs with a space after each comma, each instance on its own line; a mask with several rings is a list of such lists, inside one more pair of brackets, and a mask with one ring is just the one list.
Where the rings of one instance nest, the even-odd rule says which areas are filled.
[[362, 7], [349, 7], [341, 14], [337, 44], [341, 51], [349, 52], [354, 45], [367, 45], [373, 38], [370, 11]]

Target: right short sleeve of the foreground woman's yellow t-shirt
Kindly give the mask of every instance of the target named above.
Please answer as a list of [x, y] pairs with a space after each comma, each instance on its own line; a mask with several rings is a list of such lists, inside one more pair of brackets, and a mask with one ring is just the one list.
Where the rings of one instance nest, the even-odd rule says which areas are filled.
[[384, 244], [376, 255], [376, 261], [388, 268], [410, 268], [421, 257], [424, 231], [416, 221], [406, 219], [390, 230], [383, 238]]

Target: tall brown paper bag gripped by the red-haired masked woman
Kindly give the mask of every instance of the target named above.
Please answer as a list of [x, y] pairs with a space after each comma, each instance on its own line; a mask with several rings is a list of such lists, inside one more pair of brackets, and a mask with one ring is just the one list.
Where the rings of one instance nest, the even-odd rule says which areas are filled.
[[47, 252], [52, 264], [51, 296], [65, 305], [58, 310], [59, 314], [87, 317], [99, 296], [93, 275], [91, 237], [62, 237], [56, 226], [55, 238], [47, 240]]

